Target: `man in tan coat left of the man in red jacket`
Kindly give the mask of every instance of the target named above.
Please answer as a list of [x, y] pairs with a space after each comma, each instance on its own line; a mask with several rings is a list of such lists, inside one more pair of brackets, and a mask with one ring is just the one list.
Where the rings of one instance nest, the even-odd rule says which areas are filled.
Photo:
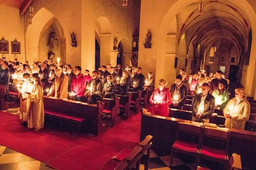
[[55, 80], [49, 90], [47, 96], [53, 95], [55, 98], [66, 99], [68, 98], [68, 77], [63, 74], [61, 69], [55, 70]]

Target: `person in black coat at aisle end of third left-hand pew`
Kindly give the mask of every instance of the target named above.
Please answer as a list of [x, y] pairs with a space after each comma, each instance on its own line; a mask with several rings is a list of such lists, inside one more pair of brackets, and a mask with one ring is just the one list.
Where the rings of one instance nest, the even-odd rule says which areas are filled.
[[117, 82], [117, 85], [116, 85], [116, 90], [117, 90], [116, 93], [120, 95], [128, 94], [129, 86], [130, 86], [129, 73], [128, 71], [123, 70], [122, 77], [120, 81]]

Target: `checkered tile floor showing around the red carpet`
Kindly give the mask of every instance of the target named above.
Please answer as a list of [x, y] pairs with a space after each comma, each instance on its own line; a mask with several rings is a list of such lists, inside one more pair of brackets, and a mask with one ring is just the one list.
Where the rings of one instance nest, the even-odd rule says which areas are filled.
[[[15, 115], [19, 115], [19, 108], [10, 108], [6, 110], [7, 112]], [[150, 169], [151, 170], [169, 170], [169, 169], [196, 169], [195, 160], [191, 157], [184, 155], [177, 155], [173, 158], [173, 165], [170, 167], [170, 156], [157, 156], [153, 151], [151, 151], [150, 156]], [[200, 164], [202, 167], [209, 168], [205, 164]], [[52, 169], [49, 166], [46, 166], [45, 163], [37, 161], [31, 157], [18, 153], [10, 148], [0, 145], [0, 170], [48, 170]], [[140, 169], [144, 169], [144, 165], [141, 164]], [[209, 168], [210, 169], [210, 168]], [[216, 169], [216, 167], [211, 167], [211, 169]], [[217, 168], [218, 169], [218, 168]]]

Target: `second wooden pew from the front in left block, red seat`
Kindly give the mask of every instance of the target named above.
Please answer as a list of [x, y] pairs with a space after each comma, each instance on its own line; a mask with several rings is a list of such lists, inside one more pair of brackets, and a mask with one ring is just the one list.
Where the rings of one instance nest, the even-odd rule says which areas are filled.
[[115, 99], [106, 99], [106, 98], [103, 98], [102, 99], [102, 102], [104, 103], [103, 105], [103, 111], [101, 113], [102, 117], [106, 117], [106, 118], [109, 118], [109, 119], [106, 119], [106, 120], [102, 120], [103, 122], [111, 122], [111, 125], [112, 127], [117, 125], [120, 120], [119, 120], [119, 117], [117, 115], [117, 107], [119, 105], [119, 100], [120, 98], [118, 97], [115, 97]]

